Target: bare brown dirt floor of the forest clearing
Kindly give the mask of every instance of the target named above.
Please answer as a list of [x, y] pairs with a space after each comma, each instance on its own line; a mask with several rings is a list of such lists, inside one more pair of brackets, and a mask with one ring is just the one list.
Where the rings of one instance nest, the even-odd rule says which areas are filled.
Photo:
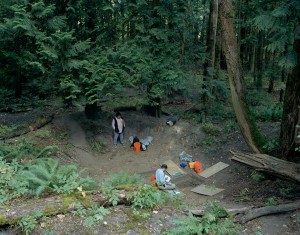
[[[23, 122], [34, 119], [40, 112], [0, 114], [0, 120], [3, 124]], [[122, 115], [126, 121], [125, 146], [119, 144], [113, 147], [113, 112], [104, 111], [100, 111], [93, 119], [87, 119], [83, 110], [79, 109], [57, 111], [52, 123], [27, 136], [44, 139], [47, 144], [58, 144], [62, 162], [76, 163], [80, 168], [87, 169], [85, 174], [100, 180], [125, 171], [130, 174], [138, 173], [144, 176], [145, 183], [150, 183], [149, 177], [163, 162], [172, 160], [179, 166], [179, 154], [182, 151], [192, 155], [194, 160], [201, 161], [204, 170], [220, 161], [230, 165], [207, 179], [198, 176], [188, 167], [183, 169], [186, 175], [172, 178], [182, 192], [184, 209], [203, 208], [207, 201], [217, 201], [225, 208], [238, 208], [265, 206], [271, 199], [280, 204], [299, 198], [299, 186], [273, 177], [258, 182], [254, 180], [253, 169], [231, 161], [230, 150], [249, 150], [240, 132], [232, 130], [226, 133], [224, 123], [216, 124], [222, 130], [221, 135], [212, 137], [205, 134], [200, 125], [183, 119], [174, 126], [168, 126], [166, 116], [155, 118], [142, 111], [124, 111]], [[279, 123], [263, 123], [260, 126], [266, 135], [278, 134]], [[53, 131], [56, 136], [38, 134]], [[153, 141], [146, 151], [135, 153], [128, 141], [133, 135], [141, 139], [152, 136]], [[215, 196], [190, 191], [202, 183], [224, 191]], [[128, 225], [127, 222], [132, 220], [126, 212], [128, 208], [118, 206], [111, 210], [112, 216], [108, 216], [106, 225], [83, 230], [80, 221], [73, 217], [53, 217], [46, 228], [40, 227], [32, 234], [45, 234], [49, 230], [53, 234], [162, 234], [168, 226], [174, 225], [175, 219], [185, 214], [182, 207], [176, 209], [166, 206], [159, 208], [158, 213], [147, 221], [131, 221], [131, 225]], [[240, 229], [239, 234], [299, 234], [300, 223], [295, 218], [296, 214], [297, 212], [293, 212], [252, 220]], [[3, 233], [18, 232], [8, 229]]]

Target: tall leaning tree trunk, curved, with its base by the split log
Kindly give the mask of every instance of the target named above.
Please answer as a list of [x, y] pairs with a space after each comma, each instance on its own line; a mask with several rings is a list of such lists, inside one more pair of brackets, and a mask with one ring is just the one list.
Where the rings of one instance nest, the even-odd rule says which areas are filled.
[[242, 83], [242, 67], [237, 51], [237, 39], [234, 32], [232, 19], [232, 0], [222, 0], [219, 4], [220, 24], [222, 34], [222, 49], [226, 58], [229, 77], [231, 99], [238, 124], [241, 128], [245, 141], [252, 152], [259, 153], [259, 142], [262, 137], [249, 112], [244, 97]]

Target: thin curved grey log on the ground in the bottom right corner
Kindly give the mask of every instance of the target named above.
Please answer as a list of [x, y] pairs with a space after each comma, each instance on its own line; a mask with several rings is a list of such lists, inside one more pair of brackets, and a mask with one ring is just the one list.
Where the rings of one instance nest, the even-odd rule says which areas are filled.
[[300, 209], [300, 201], [295, 201], [288, 204], [281, 204], [278, 206], [265, 206], [265, 207], [255, 208], [249, 210], [244, 215], [237, 216], [235, 218], [235, 222], [244, 224], [250, 220], [265, 215], [281, 214], [281, 213], [286, 213], [289, 211], [294, 211], [299, 209]]

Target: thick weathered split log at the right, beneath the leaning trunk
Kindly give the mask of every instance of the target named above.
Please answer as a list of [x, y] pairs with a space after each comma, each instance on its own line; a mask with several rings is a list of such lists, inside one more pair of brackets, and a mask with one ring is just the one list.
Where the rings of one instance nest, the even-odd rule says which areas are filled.
[[300, 164], [284, 161], [267, 154], [246, 154], [231, 151], [232, 160], [254, 167], [262, 171], [277, 175], [281, 178], [300, 184]]

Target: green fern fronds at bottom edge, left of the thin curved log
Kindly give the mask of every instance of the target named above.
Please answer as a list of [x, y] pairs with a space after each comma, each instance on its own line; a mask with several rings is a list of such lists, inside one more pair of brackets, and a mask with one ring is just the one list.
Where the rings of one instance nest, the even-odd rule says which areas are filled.
[[232, 218], [227, 217], [227, 212], [216, 203], [210, 202], [202, 218], [194, 217], [191, 213], [186, 218], [178, 219], [176, 226], [164, 234], [237, 234], [238, 226], [233, 223]]

